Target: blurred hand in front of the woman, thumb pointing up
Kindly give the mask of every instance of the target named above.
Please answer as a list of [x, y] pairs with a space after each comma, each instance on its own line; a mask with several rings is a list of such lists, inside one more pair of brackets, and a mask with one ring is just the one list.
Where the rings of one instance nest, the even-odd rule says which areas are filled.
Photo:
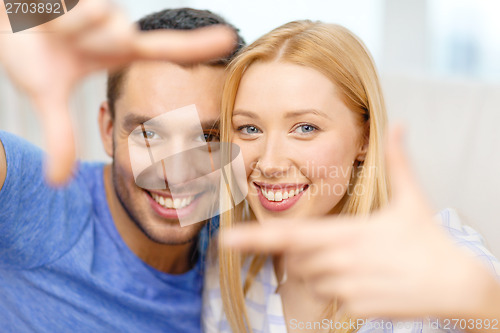
[[404, 156], [401, 130], [391, 134], [393, 199], [385, 209], [366, 218], [254, 224], [223, 239], [244, 251], [284, 254], [290, 275], [319, 296], [338, 296], [356, 316], [500, 316], [487, 300], [500, 286], [434, 221]]

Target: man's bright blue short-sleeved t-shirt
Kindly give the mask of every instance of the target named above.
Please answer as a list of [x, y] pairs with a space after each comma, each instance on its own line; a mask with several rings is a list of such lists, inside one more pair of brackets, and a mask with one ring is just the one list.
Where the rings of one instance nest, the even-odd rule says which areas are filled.
[[132, 253], [111, 218], [103, 164], [82, 163], [53, 189], [38, 148], [5, 132], [0, 140], [1, 332], [200, 331], [201, 259], [169, 275]]

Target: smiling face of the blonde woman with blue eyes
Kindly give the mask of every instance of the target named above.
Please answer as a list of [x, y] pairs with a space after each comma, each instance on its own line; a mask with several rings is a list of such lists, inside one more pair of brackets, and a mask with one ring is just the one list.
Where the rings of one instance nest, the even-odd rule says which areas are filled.
[[359, 120], [320, 72], [283, 62], [249, 67], [236, 96], [233, 142], [259, 220], [322, 216], [346, 194], [366, 146]]

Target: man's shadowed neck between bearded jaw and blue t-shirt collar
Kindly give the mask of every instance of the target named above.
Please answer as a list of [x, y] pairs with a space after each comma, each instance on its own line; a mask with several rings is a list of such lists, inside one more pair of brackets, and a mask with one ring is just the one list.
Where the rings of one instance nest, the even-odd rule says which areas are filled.
[[109, 210], [123, 241], [139, 258], [153, 268], [169, 273], [182, 274], [190, 270], [195, 262], [194, 244], [165, 245], [152, 241], [137, 227], [116, 196], [111, 166], [104, 167], [104, 187]]

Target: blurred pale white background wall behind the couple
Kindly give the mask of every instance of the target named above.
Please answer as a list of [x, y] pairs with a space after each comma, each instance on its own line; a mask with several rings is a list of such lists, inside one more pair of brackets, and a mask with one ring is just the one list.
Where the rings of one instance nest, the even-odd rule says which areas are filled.
[[[296, 19], [339, 23], [368, 46], [389, 117], [407, 128], [415, 171], [436, 209], [454, 207], [500, 257], [500, 2], [498, 0], [119, 0], [132, 20], [167, 7], [210, 9], [248, 43]], [[79, 155], [109, 160], [97, 131], [105, 75], [71, 102]], [[0, 129], [43, 147], [31, 106], [0, 70]]]

